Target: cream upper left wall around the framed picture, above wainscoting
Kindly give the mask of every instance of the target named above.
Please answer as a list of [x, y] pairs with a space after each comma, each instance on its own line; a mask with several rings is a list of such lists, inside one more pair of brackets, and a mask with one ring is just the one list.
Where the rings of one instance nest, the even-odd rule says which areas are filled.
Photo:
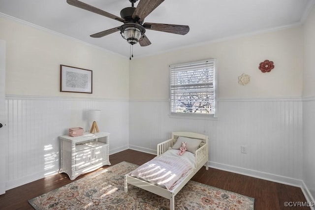
[[[128, 58], [7, 18], [0, 29], [6, 94], [128, 98]], [[93, 94], [60, 92], [60, 64], [93, 70]]]

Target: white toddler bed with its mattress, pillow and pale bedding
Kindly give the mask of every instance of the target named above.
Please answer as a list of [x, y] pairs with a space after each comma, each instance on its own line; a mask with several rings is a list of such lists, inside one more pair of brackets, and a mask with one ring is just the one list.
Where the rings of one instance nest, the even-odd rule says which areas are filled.
[[[179, 155], [182, 142], [187, 151]], [[174, 197], [202, 166], [208, 170], [208, 136], [191, 132], [172, 132], [172, 138], [157, 146], [157, 157], [125, 175], [125, 192], [132, 184], [170, 200], [175, 209]]]

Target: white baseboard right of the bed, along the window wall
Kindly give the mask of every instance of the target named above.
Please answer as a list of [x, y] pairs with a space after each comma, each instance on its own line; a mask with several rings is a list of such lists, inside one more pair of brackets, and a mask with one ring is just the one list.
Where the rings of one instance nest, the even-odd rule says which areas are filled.
[[225, 164], [211, 162], [211, 161], [208, 162], [208, 165], [211, 168], [220, 169], [223, 171], [228, 171], [228, 172], [232, 172], [236, 174], [246, 175], [249, 177], [254, 177], [254, 178], [258, 178], [262, 180], [274, 181], [274, 182], [287, 184], [287, 185], [291, 185], [295, 187], [302, 186], [302, 180], [292, 179], [292, 178], [283, 177], [283, 176], [274, 175], [274, 174], [268, 174], [268, 173], [264, 173], [260, 171], [225, 165]]

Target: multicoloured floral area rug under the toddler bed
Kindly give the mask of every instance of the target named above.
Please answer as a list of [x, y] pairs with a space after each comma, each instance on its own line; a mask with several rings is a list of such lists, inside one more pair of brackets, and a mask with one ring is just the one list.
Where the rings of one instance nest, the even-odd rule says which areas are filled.
[[[138, 166], [121, 162], [29, 200], [35, 210], [169, 210], [169, 200], [128, 184]], [[175, 210], [253, 210], [254, 199], [195, 181], [175, 196]]]

